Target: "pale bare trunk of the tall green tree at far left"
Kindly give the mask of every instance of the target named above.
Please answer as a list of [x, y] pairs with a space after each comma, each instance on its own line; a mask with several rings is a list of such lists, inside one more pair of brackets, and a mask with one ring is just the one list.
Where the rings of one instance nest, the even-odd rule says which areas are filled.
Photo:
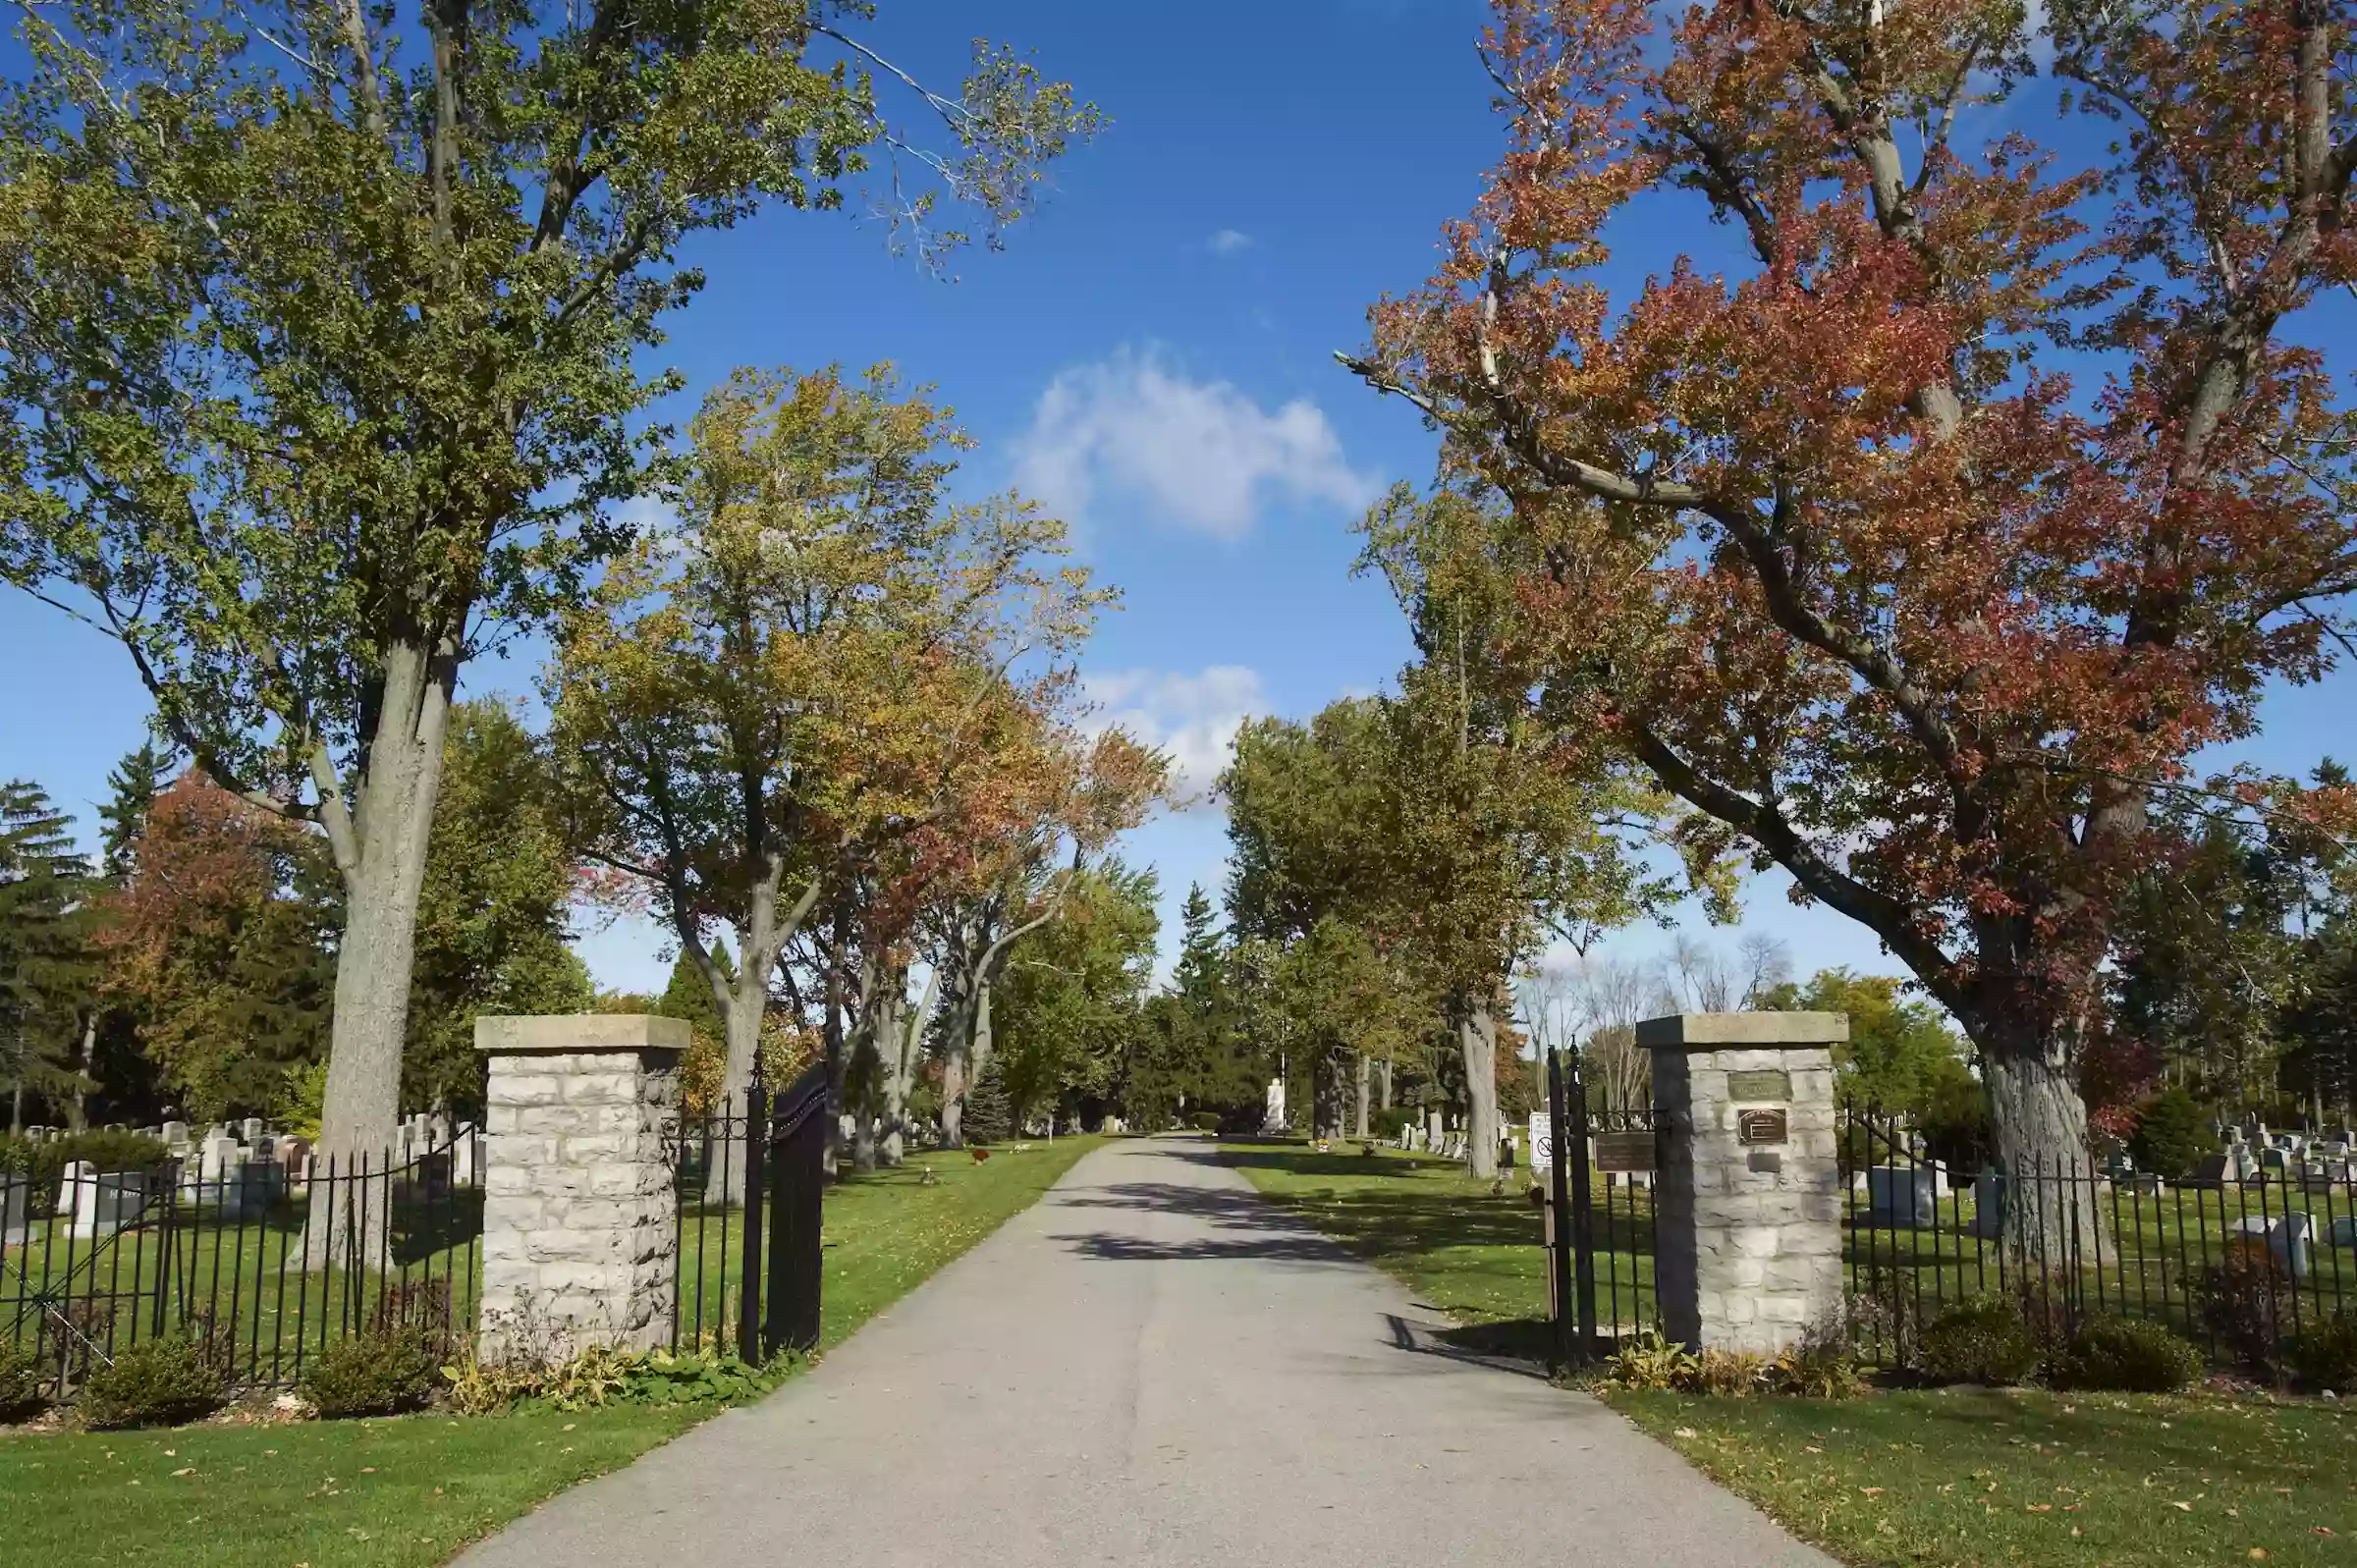
[[[394, 644], [384, 651], [368, 764], [354, 780], [349, 809], [325, 755], [313, 766], [328, 842], [344, 877], [344, 931], [335, 955], [318, 1134], [318, 1153], [332, 1160], [337, 1179], [311, 1188], [306, 1269], [377, 1266], [384, 1254], [391, 1184], [372, 1172], [391, 1158], [401, 1115], [417, 894], [427, 875], [455, 681], [457, 660], [448, 651]], [[363, 1172], [370, 1172], [368, 1181]]]

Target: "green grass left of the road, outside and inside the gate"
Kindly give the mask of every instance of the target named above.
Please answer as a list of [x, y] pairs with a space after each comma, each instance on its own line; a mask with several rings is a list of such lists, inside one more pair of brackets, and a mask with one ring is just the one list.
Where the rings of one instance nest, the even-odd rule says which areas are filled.
[[[1039, 1198], [1101, 1139], [919, 1155], [827, 1193], [825, 1346]], [[931, 1165], [926, 1186], [917, 1165]], [[0, 1436], [7, 1561], [429, 1568], [712, 1410]]]

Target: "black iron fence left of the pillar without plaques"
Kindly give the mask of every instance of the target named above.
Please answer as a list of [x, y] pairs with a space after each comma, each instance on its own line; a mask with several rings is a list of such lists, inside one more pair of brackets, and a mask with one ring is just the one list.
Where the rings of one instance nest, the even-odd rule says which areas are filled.
[[[464, 1167], [464, 1170], [462, 1170]], [[200, 1339], [233, 1389], [351, 1335], [474, 1325], [483, 1200], [455, 1148], [0, 1174], [0, 1342], [54, 1398], [144, 1339]]]

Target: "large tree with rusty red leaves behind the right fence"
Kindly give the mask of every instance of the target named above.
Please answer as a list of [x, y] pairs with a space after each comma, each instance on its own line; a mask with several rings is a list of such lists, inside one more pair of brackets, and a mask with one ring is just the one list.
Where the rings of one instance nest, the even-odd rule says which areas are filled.
[[[2357, 281], [2352, 33], [2350, 0], [1494, 0], [1506, 153], [1346, 361], [1513, 507], [1532, 700], [1716, 823], [1697, 854], [1869, 927], [1970, 1033], [2011, 1170], [2088, 1158], [2152, 802], [2341, 646], [2310, 344]], [[1612, 299], [1610, 243], [1681, 205], [1706, 250]], [[2015, 1245], [2074, 1221], [2015, 1210]]]

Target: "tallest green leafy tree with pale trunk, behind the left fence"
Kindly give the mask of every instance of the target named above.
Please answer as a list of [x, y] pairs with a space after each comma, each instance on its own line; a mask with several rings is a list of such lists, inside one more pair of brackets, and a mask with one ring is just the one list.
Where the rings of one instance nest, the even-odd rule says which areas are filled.
[[[127, 648], [344, 884], [323, 1144], [394, 1129], [460, 670], [577, 599], [662, 429], [681, 245], [891, 149], [938, 262], [1096, 116], [1006, 52], [915, 83], [813, 0], [19, 7], [0, 87], [0, 575]], [[903, 156], [900, 149], [917, 149]]]

